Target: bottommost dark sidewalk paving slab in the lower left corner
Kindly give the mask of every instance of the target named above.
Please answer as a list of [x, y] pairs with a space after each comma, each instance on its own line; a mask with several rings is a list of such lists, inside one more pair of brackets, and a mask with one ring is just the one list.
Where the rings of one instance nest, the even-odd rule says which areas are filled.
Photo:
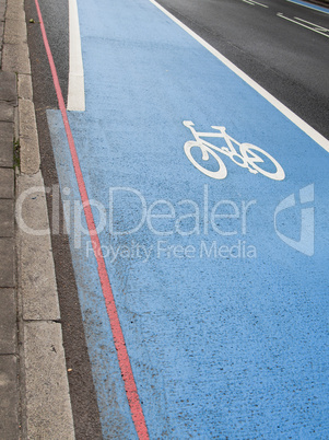
[[16, 440], [19, 432], [17, 363], [15, 356], [0, 356], [0, 439]]

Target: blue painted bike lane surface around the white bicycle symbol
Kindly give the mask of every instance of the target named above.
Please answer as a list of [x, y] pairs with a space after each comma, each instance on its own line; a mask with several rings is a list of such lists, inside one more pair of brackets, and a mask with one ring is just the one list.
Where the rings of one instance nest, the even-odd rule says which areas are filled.
[[[78, 7], [86, 111], [69, 121], [150, 437], [321, 438], [328, 152], [151, 2]], [[219, 151], [227, 175], [209, 177], [185, 120], [285, 178]], [[104, 438], [132, 439], [60, 112], [48, 121]]]

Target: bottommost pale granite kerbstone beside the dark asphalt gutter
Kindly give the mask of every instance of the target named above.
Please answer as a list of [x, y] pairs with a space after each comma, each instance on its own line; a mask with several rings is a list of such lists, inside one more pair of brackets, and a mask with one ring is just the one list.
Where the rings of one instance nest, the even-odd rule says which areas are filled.
[[28, 439], [74, 439], [61, 325], [24, 325]]

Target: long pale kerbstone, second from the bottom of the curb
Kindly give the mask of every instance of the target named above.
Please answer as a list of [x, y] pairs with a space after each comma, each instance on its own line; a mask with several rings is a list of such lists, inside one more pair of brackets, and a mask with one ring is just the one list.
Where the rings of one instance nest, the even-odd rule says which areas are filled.
[[44, 180], [17, 177], [17, 255], [24, 320], [60, 319]]

